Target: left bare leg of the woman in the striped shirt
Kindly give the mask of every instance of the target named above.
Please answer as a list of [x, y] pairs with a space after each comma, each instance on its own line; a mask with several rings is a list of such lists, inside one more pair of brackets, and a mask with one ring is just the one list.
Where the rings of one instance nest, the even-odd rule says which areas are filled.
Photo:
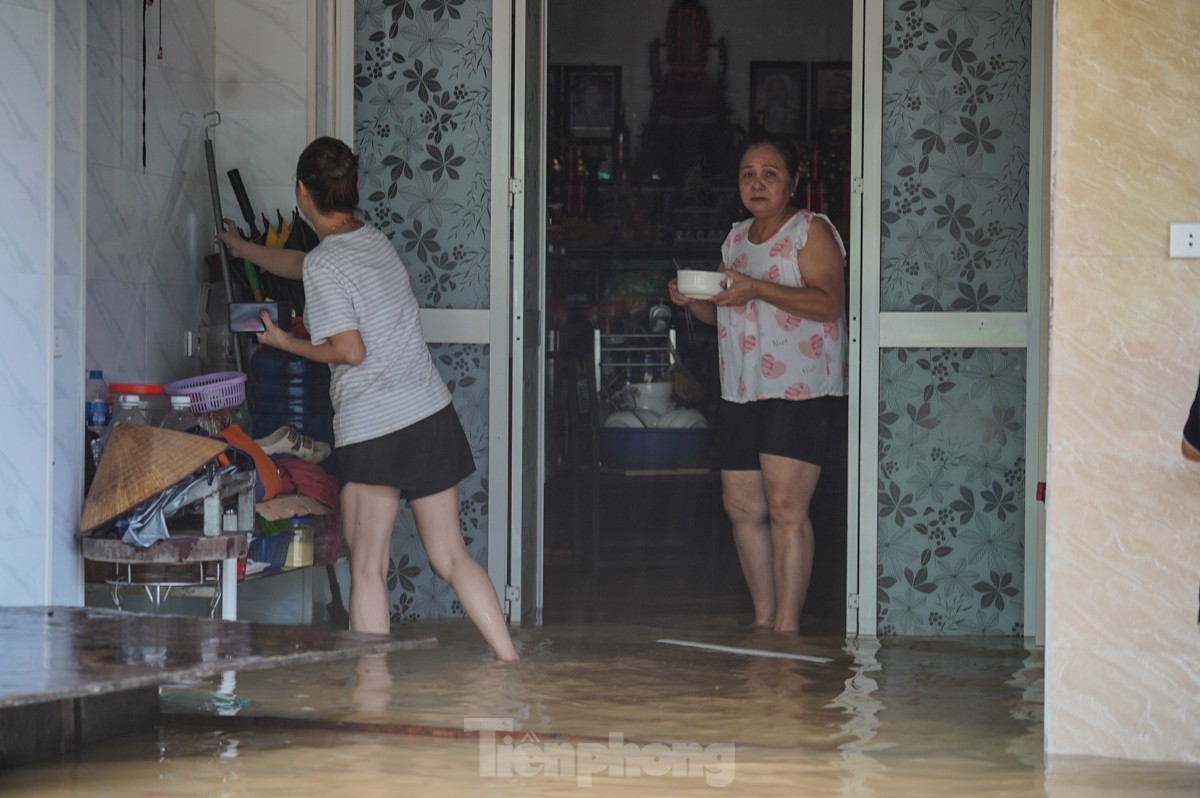
[[342, 533], [350, 548], [350, 629], [386, 635], [388, 556], [400, 491], [349, 482], [342, 488]]

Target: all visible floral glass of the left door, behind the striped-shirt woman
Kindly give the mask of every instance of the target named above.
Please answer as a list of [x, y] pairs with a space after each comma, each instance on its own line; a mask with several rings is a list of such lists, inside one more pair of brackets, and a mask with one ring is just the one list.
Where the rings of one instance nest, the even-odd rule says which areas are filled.
[[[491, 302], [491, 0], [356, 0], [361, 205], [408, 266], [422, 307]], [[460, 485], [467, 548], [487, 562], [488, 368], [481, 344], [430, 346], [475, 455]], [[402, 509], [388, 570], [394, 623], [461, 617]]]

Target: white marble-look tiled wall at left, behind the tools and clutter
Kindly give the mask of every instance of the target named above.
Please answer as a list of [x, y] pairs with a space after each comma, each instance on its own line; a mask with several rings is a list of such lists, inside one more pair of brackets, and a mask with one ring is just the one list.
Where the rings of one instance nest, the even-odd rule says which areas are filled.
[[288, 0], [155, 4], [143, 70], [140, 4], [0, 0], [0, 605], [83, 601], [85, 370], [199, 368], [184, 335], [215, 252], [205, 137], [226, 215], [234, 167], [290, 211], [308, 22]]

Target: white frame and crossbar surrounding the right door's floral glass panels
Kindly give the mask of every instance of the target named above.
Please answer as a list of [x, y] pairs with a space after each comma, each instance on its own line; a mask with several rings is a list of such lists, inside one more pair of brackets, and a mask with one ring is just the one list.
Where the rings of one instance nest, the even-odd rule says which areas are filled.
[[[854, 145], [854, 157], [860, 157], [860, 169], [854, 169], [854, 180], [862, 186], [860, 226], [853, 235], [859, 253], [857, 269], [851, 264], [853, 275], [860, 274], [857, 299], [860, 323], [851, 319], [851, 346], [858, 350], [857, 390], [852, 374], [852, 396], [858, 400], [858, 424], [851, 425], [851, 439], [858, 438], [858, 474], [851, 475], [851, 527], [857, 516], [858, 574], [854, 582], [858, 589], [857, 613], [847, 610], [847, 630], [858, 629], [862, 636], [875, 636], [878, 626], [877, 590], [877, 540], [878, 540], [878, 502], [875, 486], [878, 482], [878, 440], [874, 431], [878, 428], [880, 394], [880, 349], [890, 347], [1008, 347], [1026, 352], [1026, 436], [1025, 436], [1025, 584], [1024, 612], [1025, 634], [1040, 637], [1043, 631], [1043, 613], [1040, 607], [1042, 581], [1038, 575], [1043, 551], [1040, 526], [1044, 514], [1037, 500], [1036, 485], [1043, 478], [1044, 461], [1044, 362], [1046, 347], [1046, 313], [1043, 307], [1045, 296], [1045, 244], [1043, 241], [1045, 224], [1044, 205], [1044, 169], [1046, 149], [1045, 133], [1048, 115], [1045, 103], [1045, 20], [1049, 0], [1032, 0], [1032, 62], [1031, 94], [1032, 114], [1030, 119], [1030, 187], [1028, 187], [1028, 301], [1024, 313], [882, 313], [880, 312], [878, 284], [880, 271], [880, 215], [876, 210], [882, 200], [882, 154], [883, 140], [883, 0], [856, 0], [854, 4], [854, 66], [860, 72], [856, 76], [854, 90], [862, 91], [862, 102], [856, 97], [854, 113], [859, 114], [853, 124], [854, 134], [862, 131], [862, 146]], [[862, 35], [859, 35], [859, 32]], [[862, 50], [858, 49], [862, 42]], [[858, 77], [862, 76], [862, 77]], [[865, 290], [863, 287], [868, 287]], [[852, 294], [856, 289], [852, 288]], [[852, 295], [852, 302], [854, 296]], [[854, 305], [852, 304], [853, 308]], [[853, 312], [851, 313], [853, 317]], [[856, 329], [857, 328], [857, 329]], [[852, 355], [853, 356], [853, 355]], [[1033, 422], [1030, 422], [1030, 421]], [[853, 455], [853, 451], [851, 452]], [[854, 462], [852, 456], [850, 462]], [[857, 485], [856, 485], [857, 481]], [[857, 493], [857, 506], [854, 494]], [[853, 552], [852, 552], [853, 553]], [[853, 559], [848, 568], [853, 568]], [[847, 577], [848, 578], [848, 577]], [[854, 604], [853, 601], [851, 604]], [[848, 616], [854, 614], [853, 623]]]

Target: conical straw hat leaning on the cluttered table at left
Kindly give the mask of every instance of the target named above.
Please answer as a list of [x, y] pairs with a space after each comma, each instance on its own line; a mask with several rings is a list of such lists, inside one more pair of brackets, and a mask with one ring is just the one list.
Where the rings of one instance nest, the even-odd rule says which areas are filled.
[[79, 532], [91, 532], [132, 510], [220, 455], [227, 445], [188, 432], [116, 425], [88, 491]]

